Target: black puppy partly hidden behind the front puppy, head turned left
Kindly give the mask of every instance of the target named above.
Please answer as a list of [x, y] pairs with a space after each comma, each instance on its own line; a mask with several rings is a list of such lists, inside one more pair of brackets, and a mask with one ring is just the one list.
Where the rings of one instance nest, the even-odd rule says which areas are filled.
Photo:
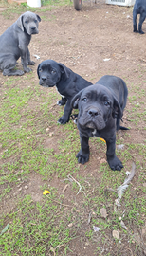
[[84, 80], [80, 75], [74, 73], [64, 64], [57, 63], [53, 60], [46, 60], [38, 65], [37, 69], [39, 84], [44, 87], [56, 86], [62, 96], [58, 101], [59, 105], [64, 105], [64, 115], [58, 122], [61, 124], [69, 121], [72, 112], [71, 100], [83, 88], [91, 85], [91, 82]]

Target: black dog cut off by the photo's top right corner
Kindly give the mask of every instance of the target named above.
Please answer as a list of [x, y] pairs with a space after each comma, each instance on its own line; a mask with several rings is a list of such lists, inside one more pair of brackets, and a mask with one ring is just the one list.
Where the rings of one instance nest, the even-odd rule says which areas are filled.
[[[137, 14], [140, 14], [138, 30], [137, 30]], [[146, 18], [146, 0], [136, 0], [134, 9], [133, 9], [133, 24], [134, 24], [134, 32], [139, 32], [140, 34], [144, 34], [142, 31], [142, 23]]]

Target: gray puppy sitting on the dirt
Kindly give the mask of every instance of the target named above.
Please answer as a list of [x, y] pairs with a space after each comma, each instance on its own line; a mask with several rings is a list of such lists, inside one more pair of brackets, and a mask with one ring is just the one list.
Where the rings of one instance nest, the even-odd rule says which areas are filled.
[[[27, 64], [34, 65], [30, 60], [28, 44], [32, 34], [38, 34], [39, 15], [27, 11], [0, 36], [0, 69], [4, 76], [22, 76], [30, 72]], [[13, 70], [21, 57], [22, 70]]]

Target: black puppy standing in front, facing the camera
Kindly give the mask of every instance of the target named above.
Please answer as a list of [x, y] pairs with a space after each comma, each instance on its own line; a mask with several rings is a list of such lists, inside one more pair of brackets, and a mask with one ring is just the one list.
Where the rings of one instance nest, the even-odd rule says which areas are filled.
[[77, 120], [81, 150], [76, 156], [84, 164], [89, 160], [89, 137], [102, 137], [107, 145], [107, 162], [112, 170], [120, 171], [123, 165], [115, 155], [116, 130], [127, 101], [126, 83], [115, 76], [103, 76], [96, 84], [79, 92], [72, 100], [79, 108]]

